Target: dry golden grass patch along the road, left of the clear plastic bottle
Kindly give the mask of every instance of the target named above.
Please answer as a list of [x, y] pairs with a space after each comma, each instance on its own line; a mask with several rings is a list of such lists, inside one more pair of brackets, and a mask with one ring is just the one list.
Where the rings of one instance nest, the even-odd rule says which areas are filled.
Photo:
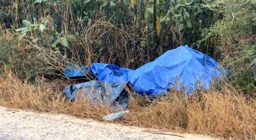
[[31, 111], [66, 113], [87, 118], [102, 118], [111, 109], [82, 102], [70, 102], [62, 90], [68, 83], [64, 81], [46, 82], [37, 80], [36, 85], [20, 81], [14, 74], [7, 72], [0, 76], [0, 105]]

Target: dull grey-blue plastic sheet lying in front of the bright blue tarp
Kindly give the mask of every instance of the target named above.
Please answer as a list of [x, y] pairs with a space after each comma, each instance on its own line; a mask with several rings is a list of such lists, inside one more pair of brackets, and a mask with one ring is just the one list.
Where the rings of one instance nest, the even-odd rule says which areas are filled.
[[109, 105], [114, 109], [126, 108], [128, 95], [123, 92], [126, 84], [127, 82], [89, 81], [66, 86], [64, 92], [66, 97], [71, 100], [86, 98], [92, 104]]

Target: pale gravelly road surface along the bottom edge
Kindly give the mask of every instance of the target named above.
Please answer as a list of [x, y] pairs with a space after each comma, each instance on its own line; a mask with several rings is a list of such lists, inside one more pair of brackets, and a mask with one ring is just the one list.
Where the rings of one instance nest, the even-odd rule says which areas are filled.
[[35, 113], [5, 107], [0, 107], [0, 124], [0, 140], [214, 140], [203, 135], [166, 133], [155, 129], [78, 119], [65, 114]]

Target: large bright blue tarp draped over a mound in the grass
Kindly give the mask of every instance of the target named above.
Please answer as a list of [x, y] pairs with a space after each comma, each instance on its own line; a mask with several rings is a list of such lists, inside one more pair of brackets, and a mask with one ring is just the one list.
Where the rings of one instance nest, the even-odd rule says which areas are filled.
[[140, 94], [159, 95], [177, 84], [191, 93], [197, 87], [209, 88], [213, 78], [222, 75], [219, 64], [210, 56], [186, 46], [162, 54], [136, 70], [116, 65], [93, 63], [90, 67], [99, 81], [128, 81]]

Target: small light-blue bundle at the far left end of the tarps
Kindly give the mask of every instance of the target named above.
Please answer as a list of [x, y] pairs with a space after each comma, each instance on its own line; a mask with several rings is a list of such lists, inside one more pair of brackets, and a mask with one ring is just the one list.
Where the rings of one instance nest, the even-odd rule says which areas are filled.
[[68, 65], [67, 68], [64, 69], [64, 74], [67, 77], [82, 77], [85, 76], [90, 72], [89, 66], [80, 66], [78, 67], [77, 65], [71, 64]]

